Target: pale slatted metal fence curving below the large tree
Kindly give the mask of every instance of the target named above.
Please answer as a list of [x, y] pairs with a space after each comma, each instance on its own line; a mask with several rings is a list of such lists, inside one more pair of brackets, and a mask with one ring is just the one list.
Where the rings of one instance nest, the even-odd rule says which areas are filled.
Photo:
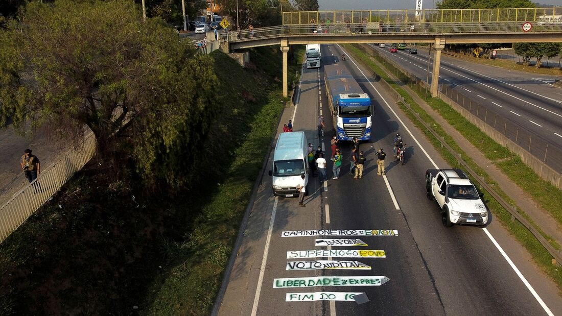
[[65, 155], [0, 207], [0, 242], [35, 213], [66, 181], [92, 159], [96, 152], [96, 138], [90, 132], [82, 143]]

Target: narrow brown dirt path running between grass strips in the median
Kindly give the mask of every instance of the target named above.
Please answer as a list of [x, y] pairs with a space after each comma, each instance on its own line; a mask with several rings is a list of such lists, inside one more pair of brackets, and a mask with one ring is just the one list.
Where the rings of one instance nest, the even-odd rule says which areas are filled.
[[[381, 68], [385, 69], [374, 58], [371, 60]], [[396, 76], [389, 72], [386, 72], [394, 81], [401, 83]], [[450, 135], [460, 148], [462, 148], [466, 153], [470, 153], [470, 158], [478, 164], [478, 166], [486, 168], [486, 172], [492, 178], [494, 178], [498, 184], [500, 184], [501, 190], [505, 192], [511, 199], [513, 199], [516, 205], [525, 212], [531, 219], [545, 232], [547, 235], [552, 237], [559, 245], [562, 245], [562, 225], [556, 221], [545, 209], [541, 208], [540, 205], [533, 200], [532, 196], [525, 193], [515, 182], [511, 181], [509, 177], [504, 175], [504, 173], [499, 170], [495, 164], [493, 164], [490, 159], [484, 157], [484, 154], [475, 147], [470, 141], [466, 140], [463, 135], [459, 133], [454, 127], [452, 127], [438, 112], [434, 111], [425, 101], [411, 90], [409, 86], [402, 85], [402, 89], [406, 90], [407, 93], [414, 98], [415, 102], [418, 103], [425, 112], [427, 112], [433, 119], [441, 125], [443, 130]], [[560, 251], [559, 251], [560, 253]]]

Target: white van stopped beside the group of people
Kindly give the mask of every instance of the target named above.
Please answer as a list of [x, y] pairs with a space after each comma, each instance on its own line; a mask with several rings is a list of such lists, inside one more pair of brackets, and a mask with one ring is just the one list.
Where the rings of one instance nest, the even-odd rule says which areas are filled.
[[273, 154], [273, 170], [269, 171], [274, 195], [298, 196], [297, 186], [301, 182], [301, 175], [305, 175], [308, 195], [307, 149], [305, 132], [282, 132], [279, 135]]

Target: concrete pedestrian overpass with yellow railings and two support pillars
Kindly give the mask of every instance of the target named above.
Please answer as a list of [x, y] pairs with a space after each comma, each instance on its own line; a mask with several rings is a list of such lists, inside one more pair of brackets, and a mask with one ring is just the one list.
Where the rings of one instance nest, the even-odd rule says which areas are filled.
[[434, 49], [431, 94], [437, 95], [445, 44], [562, 42], [562, 7], [447, 10], [283, 12], [283, 25], [230, 31], [229, 51], [280, 45], [283, 94], [292, 44], [430, 43]]

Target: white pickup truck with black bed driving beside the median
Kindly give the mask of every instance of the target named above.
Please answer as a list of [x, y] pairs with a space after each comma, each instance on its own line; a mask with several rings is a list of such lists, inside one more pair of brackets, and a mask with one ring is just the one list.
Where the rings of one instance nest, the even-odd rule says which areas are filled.
[[486, 226], [488, 209], [482, 193], [460, 169], [428, 169], [425, 171], [427, 198], [435, 199], [441, 208], [443, 226]]

